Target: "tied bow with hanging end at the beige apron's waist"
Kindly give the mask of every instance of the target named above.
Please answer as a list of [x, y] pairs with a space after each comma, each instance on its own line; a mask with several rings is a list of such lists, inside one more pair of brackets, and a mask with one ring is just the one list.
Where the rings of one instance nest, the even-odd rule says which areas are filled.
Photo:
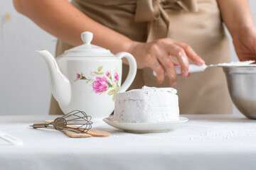
[[197, 0], [137, 0], [134, 20], [148, 22], [147, 42], [168, 37], [170, 21], [166, 10], [198, 12]]

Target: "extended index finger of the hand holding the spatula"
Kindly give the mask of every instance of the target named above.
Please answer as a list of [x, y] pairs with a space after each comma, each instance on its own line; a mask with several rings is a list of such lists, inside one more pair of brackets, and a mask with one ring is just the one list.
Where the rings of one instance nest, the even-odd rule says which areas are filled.
[[183, 43], [183, 42], [176, 42], [177, 45], [183, 48], [183, 50], [186, 52], [186, 55], [190, 60], [192, 60], [194, 63], [198, 65], [203, 65], [205, 62], [201, 57], [199, 57], [196, 52], [192, 49], [191, 46]]

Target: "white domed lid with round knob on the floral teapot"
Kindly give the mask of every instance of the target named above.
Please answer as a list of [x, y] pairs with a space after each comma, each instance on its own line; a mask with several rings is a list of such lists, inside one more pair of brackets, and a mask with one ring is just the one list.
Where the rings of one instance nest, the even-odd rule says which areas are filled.
[[85, 31], [81, 34], [83, 45], [70, 48], [70, 50], [65, 50], [61, 57], [114, 57], [114, 55], [103, 47], [97, 45], [92, 45], [93, 34], [89, 31]]

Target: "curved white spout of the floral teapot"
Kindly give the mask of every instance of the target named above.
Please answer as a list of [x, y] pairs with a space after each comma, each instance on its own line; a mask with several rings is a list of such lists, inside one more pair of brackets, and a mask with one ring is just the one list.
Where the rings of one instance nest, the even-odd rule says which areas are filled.
[[36, 52], [38, 52], [38, 54], [44, 58], [46, 64], [48, 65], [50, 72], [51, 92], [54, 98], [60, 105], [67, 106], [71, 99], [70, 81], [62, 72], [60, 72], [60, 68], [50, 52], [47, 50], [37, 50]]

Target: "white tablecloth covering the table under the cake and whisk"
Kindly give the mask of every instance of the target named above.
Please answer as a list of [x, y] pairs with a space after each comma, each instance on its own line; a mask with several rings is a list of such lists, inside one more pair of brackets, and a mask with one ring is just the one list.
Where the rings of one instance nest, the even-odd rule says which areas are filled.
[[110, 137], [70, 138], [28, 125], [55, 116], [0, 116], [0, 169], [256, 169], [256, 121], [234, 115], [183, 115], [188, 123], [164, 133], [133, 134], [105, 123]]

